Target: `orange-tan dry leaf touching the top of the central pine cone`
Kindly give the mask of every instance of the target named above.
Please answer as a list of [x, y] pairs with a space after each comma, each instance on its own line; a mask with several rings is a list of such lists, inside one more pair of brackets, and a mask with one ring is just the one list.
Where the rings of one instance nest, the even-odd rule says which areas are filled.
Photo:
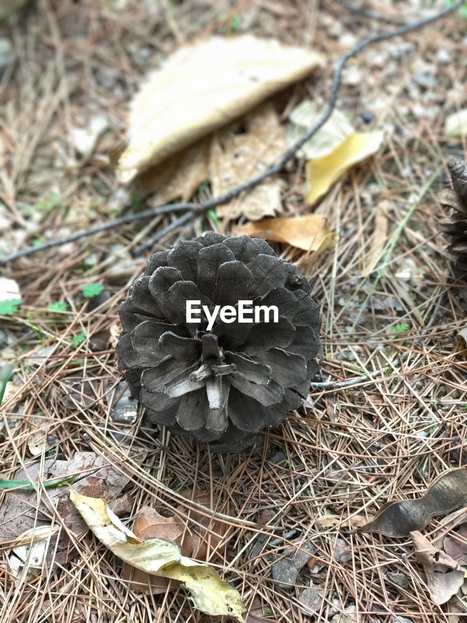
[[237, 226], [235, 233], [266, 238], [274, 242], [287, 242], [305, 251], [332, 249], [337, 242], [337, 234], [331, 232], [326, 218], [321, 214], [263, 219]]

